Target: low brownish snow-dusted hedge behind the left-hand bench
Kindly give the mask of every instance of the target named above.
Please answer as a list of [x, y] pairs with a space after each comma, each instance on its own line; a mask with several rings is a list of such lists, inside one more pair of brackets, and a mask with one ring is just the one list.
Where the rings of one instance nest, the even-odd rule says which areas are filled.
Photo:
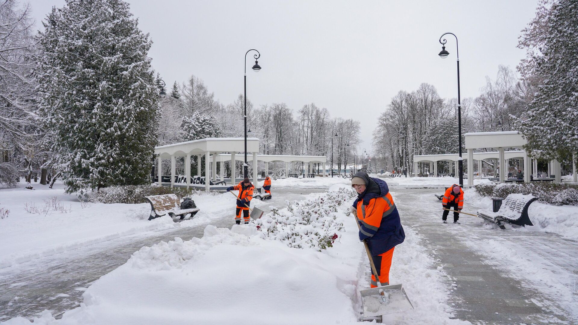
[[176, 194], [177, 197], [187, 197], [193, 194], [201, 194], [204, 192], [194, 189], [187, 190], [184, 187], [166, 187], [158, 186], [156, 184], [150, 185], [124, 185], [124, 186], [110, 186], [94, 191], [87, 196], [87, 201], [98, 203], [127, 203], [138, 204], [146, 203], [144, 197], [150, 195]]

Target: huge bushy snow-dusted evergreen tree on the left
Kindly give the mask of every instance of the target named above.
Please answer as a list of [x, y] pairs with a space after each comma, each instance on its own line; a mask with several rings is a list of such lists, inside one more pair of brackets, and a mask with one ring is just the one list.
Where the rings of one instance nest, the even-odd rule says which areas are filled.
[[151, 41], [121, 0], [66, 0], [39, 34], [39, 114], [55, 135], [66, 191], [149, 180], [158, 89]]

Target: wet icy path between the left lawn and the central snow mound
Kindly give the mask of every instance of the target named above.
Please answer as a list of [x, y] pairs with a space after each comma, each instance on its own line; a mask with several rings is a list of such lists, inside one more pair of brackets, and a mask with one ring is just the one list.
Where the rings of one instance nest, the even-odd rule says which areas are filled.
[[[325, 190], [275, 189], [273, 199], [260, 202], [259, 206], [268, 212], [264, 206], [281, 208], [286, 206], [286, 200], [301, 200], [303, 194]], [[224, 209], [210, 223], [231, 228], [232, 209]], [[82, 293], [92, 282], [126, 263], [131, 254], [143, 246], [175, 237], [185, 241], [202, 237], [206, 226], [196, 224], [148, 231], [0, 269], [0, 321], [16, 316], [31, 318], [45, 309], [53, 315], [72, 309], [82, 301]]]

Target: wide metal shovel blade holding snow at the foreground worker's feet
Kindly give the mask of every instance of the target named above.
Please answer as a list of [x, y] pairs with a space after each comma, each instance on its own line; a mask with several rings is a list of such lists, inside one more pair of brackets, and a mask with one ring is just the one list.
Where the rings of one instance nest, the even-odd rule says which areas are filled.
[[[383, 301], [380, 290], [385, 293], [386, 301]], [[387, 315], [413, 309], [412, 302], [407, 298], [402, 285], [381, 286], [371, 289], [360, 290], [361, 304], [364, 317]]]

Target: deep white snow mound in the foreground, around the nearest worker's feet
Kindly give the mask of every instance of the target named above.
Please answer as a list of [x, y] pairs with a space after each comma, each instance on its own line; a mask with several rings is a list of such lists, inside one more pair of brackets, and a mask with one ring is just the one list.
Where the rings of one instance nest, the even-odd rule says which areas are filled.
[[[351, 190], [335, 185], [328, 193], [306, 198], [335, 202], [335, 191], [340, 188]], [[213, 197], [214, 203], [222, 198]], [[358, 291], [369, 284], [367, 257], [358, 241], [354, 217], [348, 213], [352, 201], [324, 212], [324, 217], [335, 218], [343, 227], [333, 247], [321, 252], [316, 247], [291, 248], [291, 240], [265, 235], [254, 224], [231, 230], [207, 226], [202, 238], [175, 238], [140, 249], [126, 264], [91, 285], [80, 307], [64, 313], [61, 320], [45, 312], [34, 323], [357, 323], [361, 309]], [[279, 214], [289, 216], [291, 211], [281, 209]], [[306, 237], [322, 224], [298, 228], [301, 232], [295, 235]], [[406, 241], [395, 249], [390, 283], [403, 283], [416, 309], [386, 320], [469, 324], [450, 319], [443, 269], [436, 268], [420, 246], [419, 235], [409, 227], [405, 230]], [[5, 324], [30, 323], [17, 317]]]

